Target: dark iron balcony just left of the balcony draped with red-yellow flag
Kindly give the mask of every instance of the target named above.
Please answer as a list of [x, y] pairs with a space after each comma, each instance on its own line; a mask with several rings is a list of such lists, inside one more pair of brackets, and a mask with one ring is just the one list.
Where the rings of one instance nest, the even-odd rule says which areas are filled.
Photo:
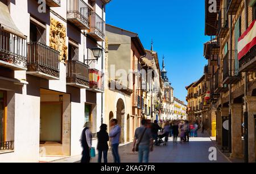
[[79, 60], [67, 61], [67, 85], [89, 88], [89, 66]]

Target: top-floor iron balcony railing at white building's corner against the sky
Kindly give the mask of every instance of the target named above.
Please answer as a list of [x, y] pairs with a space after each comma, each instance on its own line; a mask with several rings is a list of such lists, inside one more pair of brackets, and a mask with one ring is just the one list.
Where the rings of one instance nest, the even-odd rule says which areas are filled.
[[105, 39], [105, 21], [96, 13], [92, 13], [91, 23], [90, 32], [94, 32], [101, 39]]

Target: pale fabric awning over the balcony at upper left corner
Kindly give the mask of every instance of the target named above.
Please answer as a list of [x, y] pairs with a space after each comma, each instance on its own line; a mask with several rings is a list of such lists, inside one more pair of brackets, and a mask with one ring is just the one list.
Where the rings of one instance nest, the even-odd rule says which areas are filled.
[[0, 2], [0, 27], [2, 27], [5, 31], [11, 32], [20, 36], [21, 38], [26, 39], [26, 36], [24, 36], [22, 32], [20, 32], [15, 26], [8, 7], [2, 2]]

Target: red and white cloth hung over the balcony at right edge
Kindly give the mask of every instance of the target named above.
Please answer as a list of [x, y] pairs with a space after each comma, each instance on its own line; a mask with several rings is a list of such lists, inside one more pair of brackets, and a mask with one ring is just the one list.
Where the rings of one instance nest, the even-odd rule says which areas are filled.
[[251, 48], [256, 45], [256, 20], [254, 20], [249, 28], [243, 32], [242, 36], [238, 39], [237, 52], [238, 60], [242, 59]]

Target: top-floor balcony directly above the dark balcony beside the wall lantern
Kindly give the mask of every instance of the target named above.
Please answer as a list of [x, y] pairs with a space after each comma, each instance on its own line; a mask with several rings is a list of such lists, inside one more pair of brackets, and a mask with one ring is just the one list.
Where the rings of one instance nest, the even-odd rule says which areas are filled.
[[68, 0], [67, 19], [80, 30], [90, 29], [92, 9], [83, 0]]

